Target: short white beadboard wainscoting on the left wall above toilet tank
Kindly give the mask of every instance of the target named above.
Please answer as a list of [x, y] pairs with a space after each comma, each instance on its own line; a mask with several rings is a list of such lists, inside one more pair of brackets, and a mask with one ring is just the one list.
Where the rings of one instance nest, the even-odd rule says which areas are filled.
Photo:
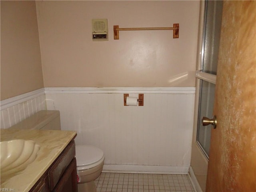
[[46, 110], [44, 88], [2, 100], [0, 128], [9, 128], [40, 110]]

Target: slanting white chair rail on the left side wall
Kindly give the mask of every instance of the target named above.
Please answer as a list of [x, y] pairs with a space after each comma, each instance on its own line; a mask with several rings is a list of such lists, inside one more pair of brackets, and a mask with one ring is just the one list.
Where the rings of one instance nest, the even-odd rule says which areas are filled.
[[34, 99], [36, 97], [39, 97], [41, 95], [44, 95], [44, 88], [34, 90], [28, 93], [24, 93], [18, 96], [14, 96], [5, 100], [2, 100], [0, 103], [1, 110], [7, 109], [9, 107], [12, 107], [14, 105], [20, 104], [22, 102], [25, 102], [30, 99]]

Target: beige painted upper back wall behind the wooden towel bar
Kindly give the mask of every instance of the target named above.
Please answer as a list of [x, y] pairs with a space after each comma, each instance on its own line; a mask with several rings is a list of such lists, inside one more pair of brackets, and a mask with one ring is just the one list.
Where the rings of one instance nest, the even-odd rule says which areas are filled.
[[[199, 1], [36, 1], [45, 87], [195, 86]], [[109, 40], [92, 41], [93, 18]], [[113, 26], [172, 27], [122, 31]]]

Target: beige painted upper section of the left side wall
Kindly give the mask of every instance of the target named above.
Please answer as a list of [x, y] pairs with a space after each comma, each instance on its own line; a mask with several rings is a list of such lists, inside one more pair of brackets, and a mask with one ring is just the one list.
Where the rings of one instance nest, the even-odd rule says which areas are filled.
[[1, 100], [43, 88], [34, 1], [1, 1]]

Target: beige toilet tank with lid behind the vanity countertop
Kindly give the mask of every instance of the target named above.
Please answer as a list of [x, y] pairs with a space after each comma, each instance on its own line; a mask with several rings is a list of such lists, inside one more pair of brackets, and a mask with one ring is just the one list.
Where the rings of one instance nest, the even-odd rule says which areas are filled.
[[42, 110], [24, 119], [9, 129], [40, 129], [60, 130], [60, 112], [57, 110]]

